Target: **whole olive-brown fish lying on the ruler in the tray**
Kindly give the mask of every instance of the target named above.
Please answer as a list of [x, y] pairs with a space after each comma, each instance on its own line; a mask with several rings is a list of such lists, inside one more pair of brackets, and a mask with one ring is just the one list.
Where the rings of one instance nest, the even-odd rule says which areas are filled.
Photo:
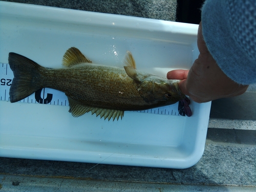
[[111, 118], [124, 116], [124, 111], [140, 111], [174, 104], [186, 96], [179, 80], [168, 80], [136, 69], [130, 51], [124, 56], [123, 68], [98, 65], [71, 47], [63, 56], [64, 68], [49, 69], [17, 53], [9, 53], [14, 78], [10, 101], [17, 102], [42, 88], [64, 92], [71, 114], [92, 114]]

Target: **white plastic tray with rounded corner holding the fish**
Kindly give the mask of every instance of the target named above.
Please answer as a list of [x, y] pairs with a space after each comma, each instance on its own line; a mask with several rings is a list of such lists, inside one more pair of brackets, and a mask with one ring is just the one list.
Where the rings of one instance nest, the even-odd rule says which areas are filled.
[[[61, 68], [77, 47], [95, 63], [122, 67], [130, 50], [139, 70], [166, 76], [189, 69], [199, 52], [197, 25], [0, 2], [0, 62], [8, 53]], [[201, 158], [210, 102], [191, 102], [193, 116], [125, 112], [107, 121], [68, 106], [0, 101], [0, 156], [187, 168]]]

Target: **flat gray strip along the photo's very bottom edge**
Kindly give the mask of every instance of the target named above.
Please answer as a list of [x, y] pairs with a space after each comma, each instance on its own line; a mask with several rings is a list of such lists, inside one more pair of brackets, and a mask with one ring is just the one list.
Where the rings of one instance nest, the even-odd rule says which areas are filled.
[[[208, 186], [208, 185], [175, 185], [175, 184], [158, 184], [158, 183], [135, 183], [135, 182], [117, 182], [117, 181], [93, 181], [93, 180], [74, 180], [62, 178], [35, 178], [30, 176], [1, 176], [4, 179], [1, 191], [138, 191], [138, 192], [151, 192], [151, 191], [175, 191], [175, 192], [193, 192], [193, 191], [232, 191], [232, 192], [252, 192], [255, 191], [254, 187], [244, 186]], [[18, 181], [14, 181], [18, 179]], [[19, 181], [22, 181], [19, 183]], [[9, 184], [12, 183], [12, 184]]]

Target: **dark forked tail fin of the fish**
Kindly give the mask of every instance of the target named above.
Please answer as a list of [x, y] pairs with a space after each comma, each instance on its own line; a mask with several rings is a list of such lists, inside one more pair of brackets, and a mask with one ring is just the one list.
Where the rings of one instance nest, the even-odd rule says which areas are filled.
[[9, 92], [11, 102], [22, 100], [41, 88], [40, 70], [44, 67], [17, 53], [9, 53], [9, 65], [14, 74]]

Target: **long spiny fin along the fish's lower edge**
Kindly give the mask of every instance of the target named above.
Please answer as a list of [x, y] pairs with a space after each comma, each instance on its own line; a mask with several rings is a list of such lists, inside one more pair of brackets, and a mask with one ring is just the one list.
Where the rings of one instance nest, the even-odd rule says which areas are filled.
[[89, 111], [92, 112], [92, 115], [95, 113], [96, 117], [99, 115], [100, 118], [104, 117], [104, 120], [108, 118], [109, 120], [112, 118], [113, 121], [115, 118], [118, 120], [119, 117], [123, 117], [124, 112], [119, 110], [110, 110], [110, 109], [102, 109], [102, 108], [95, 108], [93, 106], [87, 106], [84, 105], [70, 97], [69, 99], [69, 106], [70, 106], [70, 112], [74, 117], [79, 117], [83, 115], [84, 113], [87, 113]]

